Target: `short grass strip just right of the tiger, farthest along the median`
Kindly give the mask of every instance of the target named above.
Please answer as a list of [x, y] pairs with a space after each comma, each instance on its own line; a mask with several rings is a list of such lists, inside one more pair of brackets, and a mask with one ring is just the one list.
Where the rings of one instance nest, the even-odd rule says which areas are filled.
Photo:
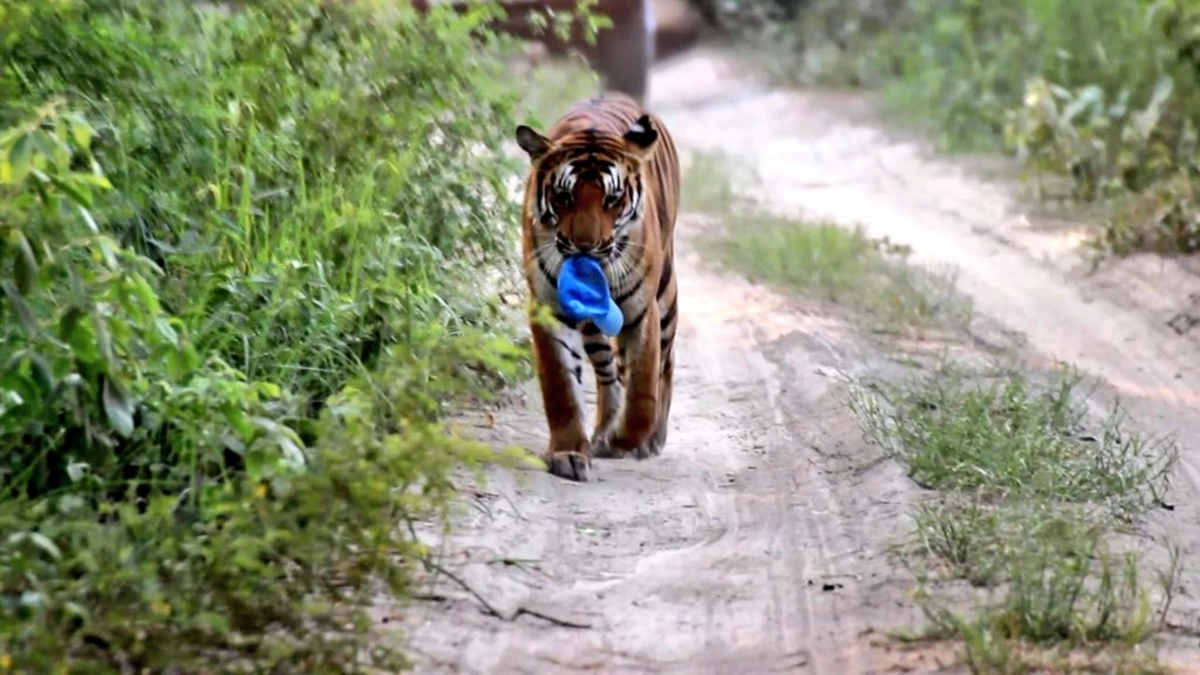
[[731, 161], [697, 155], [685, 167], [683, 207], [720, 216], [720, 232], [701, 243], [719, 264], [848, 306], [878, 331], [944, 328], [967, 315], [952, 285], [907, 264], [906, 249], [859, 228], [774, 215], [748, 199]]

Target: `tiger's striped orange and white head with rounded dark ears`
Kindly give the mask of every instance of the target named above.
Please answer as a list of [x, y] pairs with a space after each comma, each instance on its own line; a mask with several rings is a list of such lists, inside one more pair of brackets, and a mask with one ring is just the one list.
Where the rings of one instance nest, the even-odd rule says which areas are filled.
[[521, 125], [516, 139], [533, 162], [534, 237], [545, 240], [553, 234], [563, 257], [584, 253], [601, 262], [619, 257], [646, 210], [643, 168], [659, 139], [649, 115], [623, 135], [589, 129], [551, 141]]

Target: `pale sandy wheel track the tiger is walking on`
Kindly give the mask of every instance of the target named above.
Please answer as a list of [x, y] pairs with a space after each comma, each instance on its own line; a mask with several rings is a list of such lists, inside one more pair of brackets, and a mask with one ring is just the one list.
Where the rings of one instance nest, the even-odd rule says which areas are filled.
[[[874, 461], [844, 406], [842, 369], [865, 347], [839, 319], [702, 270], [689, 239], [664, 455], [598, 460], [587, 484], [492, 472], [486, 513], [466, 514], [442, 542], [446, 567], [502, 614], [526, 608], [590, 628], [485, 616], [440, 581], [445, 601], [398, 610], [416, 671], [882, 668], [887, 655], [860, 634], [896, 625], [911, 586], [884, 554], [906, 527], [910, 485]], [[540, 450], [536, 396], [530, 383], [480, 435]], [[844, 470], [828, 471], [822, 453]], [[905, 611], [900, 625], [916, 619]]]

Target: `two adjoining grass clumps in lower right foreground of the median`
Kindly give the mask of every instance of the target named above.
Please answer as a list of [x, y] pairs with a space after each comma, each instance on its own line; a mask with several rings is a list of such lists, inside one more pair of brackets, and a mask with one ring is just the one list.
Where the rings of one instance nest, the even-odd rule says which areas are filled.
[[[920, 597], [937, 634], [962, 638], [973, 671], [1063, 659], [1154, 671], [1134, 647], [1159, 627], [1180, 562], [1159, 574], [1156, 605], [1144, 561], [1112, 542], [1162, 503], [1176, 449], [1128, 429], [1118, 407], [1093, 430], [1078, 384], [1069, 371], [1034, 387], [1016, 368], [944, 366], [852, 398], [868, 435], [940, 491], [914, 522], [934, 562], [923, 574], [944, 591]], [[950, 609], [953, 579], [984, 596], [973, 615]]]

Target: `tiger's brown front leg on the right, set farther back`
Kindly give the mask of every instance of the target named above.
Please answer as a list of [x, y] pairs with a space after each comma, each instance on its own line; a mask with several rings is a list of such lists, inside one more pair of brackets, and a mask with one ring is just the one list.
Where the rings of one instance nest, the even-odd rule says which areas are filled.
[[618, 336], [626, 369], [625, 405], [614, 430], [592, 441], [596, 455], [637, 459], [650, 456], [649, 440], [659, 418], [659, 307], [650, 300], [646, 312]]

